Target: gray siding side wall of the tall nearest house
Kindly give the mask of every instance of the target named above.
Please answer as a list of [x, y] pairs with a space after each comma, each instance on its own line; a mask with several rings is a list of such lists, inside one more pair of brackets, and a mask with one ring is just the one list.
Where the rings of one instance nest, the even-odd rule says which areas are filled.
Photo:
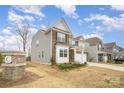
[[[36, 46], [36, 41], [39, 41], [39, 46]], [[48, 63], [51, 59], [51, 32], [45, 34], [39, 31], [32, 39], [31, 43], [31, 60], [37, 62]], [[43, 55], [43, 54], [44, 55]], [[43, 57], [42, 57], [43, 56]]]

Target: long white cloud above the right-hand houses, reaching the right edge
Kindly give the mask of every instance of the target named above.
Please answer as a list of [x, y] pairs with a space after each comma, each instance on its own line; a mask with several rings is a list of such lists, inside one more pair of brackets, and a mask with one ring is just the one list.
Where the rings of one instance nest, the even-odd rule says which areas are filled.
[[84, 21], [86, 22], [100, 21], [103, 27], [124, 31], [124, 18], [122, 17], [109, 17], [107, 15], [97, 14], [85, 18]]

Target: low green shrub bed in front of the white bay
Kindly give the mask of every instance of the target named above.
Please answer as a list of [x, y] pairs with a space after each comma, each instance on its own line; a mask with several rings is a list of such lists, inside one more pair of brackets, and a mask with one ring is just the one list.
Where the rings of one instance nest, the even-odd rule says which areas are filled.
[[74, 63], [74, 64], [70, 64], [70, 63], [63, 63], [63, 64], [59, 64], [58, 67], [61, 70], [68, 70], [68, 69], [74, 69], [74, 68], [79, 68], [82, 66], [86, 66], [85, 64], [79, 64], [79, 63]]

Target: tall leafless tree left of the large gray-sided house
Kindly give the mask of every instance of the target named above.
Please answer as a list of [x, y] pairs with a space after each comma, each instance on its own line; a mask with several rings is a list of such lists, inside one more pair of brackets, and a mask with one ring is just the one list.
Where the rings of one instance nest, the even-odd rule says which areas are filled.
[[26, 45], [28, 42], [28, 36], [30, 34], [30, 25], [27, 24], [17, 24], [16, 33], [20, 36], [23, 45], [23, 51], [26, 51]]

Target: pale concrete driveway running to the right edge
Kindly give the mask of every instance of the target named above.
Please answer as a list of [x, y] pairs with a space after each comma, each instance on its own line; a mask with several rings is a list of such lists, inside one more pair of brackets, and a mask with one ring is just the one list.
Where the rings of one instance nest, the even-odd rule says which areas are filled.
[[102, 68], [112, 69], [116, 71], [124, 71], [124, 67], [120, 67], [120, 66], [113, 66], [109, 64], [100, 64], [100, 63], [93, 63], [93, 62], [87, 62], [87, 63], [89, 66], [102, 67]]

